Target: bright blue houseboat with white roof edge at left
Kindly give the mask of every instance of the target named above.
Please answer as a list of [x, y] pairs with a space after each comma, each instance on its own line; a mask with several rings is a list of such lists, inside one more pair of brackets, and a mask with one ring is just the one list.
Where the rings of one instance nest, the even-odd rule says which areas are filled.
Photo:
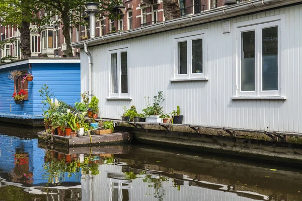
[[[21, 75], [10, 79], [10, 72], [16, 70], [21, 71]], [[27, 81], [28, 73], [32, 74], [32, 81]], [[80, 59], [29, 58], [0, 64], [0, 122], [42, 126], [43, 105], [39, 90], [44, 84], [47, 84], [54, 98], [67, 104], [79, 101]], [[25, 100], [15, 102], [12, 96], [21, 90], [26, 91]]]

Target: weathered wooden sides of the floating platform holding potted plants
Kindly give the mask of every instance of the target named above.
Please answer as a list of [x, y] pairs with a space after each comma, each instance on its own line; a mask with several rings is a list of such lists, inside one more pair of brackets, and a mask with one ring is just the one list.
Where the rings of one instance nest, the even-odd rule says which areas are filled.
[[53, 142], [55, 144], [67, 147], [84, 147], [84, 146], [100, 146], [105, 144], [122, 144], [132, 142], [132, 133], [112, 133], [106, 135], [92, 135], [82, 137], [63, 137], [58, 135], [38, 133], [38, 139], [45, 142]]

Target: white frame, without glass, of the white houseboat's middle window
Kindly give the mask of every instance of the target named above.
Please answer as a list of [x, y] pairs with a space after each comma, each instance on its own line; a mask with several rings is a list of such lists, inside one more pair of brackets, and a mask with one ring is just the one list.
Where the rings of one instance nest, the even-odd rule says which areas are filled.
[[[192, 73], [192, 41], [202, 39], [202, 73]], [[178, 34], [173, 36], [173, 80], [177, 79], [196, 79], [206, 78], [206, 67], [207, 67], [207, 30], [193, 31], [184, 34]], [[178, 43], [187, 41], [187, 74], [178, 74]]]

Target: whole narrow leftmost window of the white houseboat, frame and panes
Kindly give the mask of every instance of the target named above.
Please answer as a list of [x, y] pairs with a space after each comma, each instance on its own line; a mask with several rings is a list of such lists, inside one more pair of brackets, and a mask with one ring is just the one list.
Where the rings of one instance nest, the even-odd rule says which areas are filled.
[[128, 95], [128, 55], [127, 49], [110, 51], [111, 97]]

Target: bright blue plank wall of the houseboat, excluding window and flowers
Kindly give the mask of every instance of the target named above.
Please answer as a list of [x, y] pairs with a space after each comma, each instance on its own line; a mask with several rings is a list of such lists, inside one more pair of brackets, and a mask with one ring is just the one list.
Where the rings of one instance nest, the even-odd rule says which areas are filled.
[[[28, 64], [18, 66], [18, 70], [28, 71]], [[81, 72], [80, 63], [32, 63], [34, 79], [28, 82], [28, 100], [23, 105], [16, 105], [14, 82], [8, 78], [9, 72], [16, 70], [16, 65], [0, 69], [0, 113], [15, 115], [42, 115], [42, 97], [39, 90], [44, 84], [49, 86], [54, 98], [74, 105], [80, 100]], [[10, 109], [12, 108], [12, 109]]]

